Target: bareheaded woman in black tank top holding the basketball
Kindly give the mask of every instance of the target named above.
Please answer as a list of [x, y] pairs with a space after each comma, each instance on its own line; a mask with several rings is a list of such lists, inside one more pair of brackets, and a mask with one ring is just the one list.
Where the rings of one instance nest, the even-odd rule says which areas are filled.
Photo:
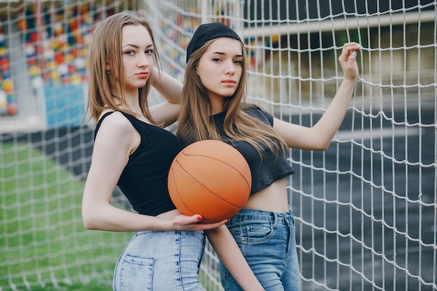
[[[114, 290], [201, 291], [202, 230], [225, 221], [199, 223], [201, 216], [180, 214], [170, 200], [168, 170], [182, 145], [163, 127], [176, 120], [182, 84], [154, 68], [156, 61], [151, 27], [138, 15], [118, 13], [96, 27], [87, 112], [97, 124], [82, 219], [92, 230], [137, 232], [117, 262]], [[147, 106], [151, 82], [167, 102]], [[116, 185], [137, 213], [110, 203]], [[228, 245], [227, 260], [233, 274], [244, 290], [262, 290], [234, 246]]]

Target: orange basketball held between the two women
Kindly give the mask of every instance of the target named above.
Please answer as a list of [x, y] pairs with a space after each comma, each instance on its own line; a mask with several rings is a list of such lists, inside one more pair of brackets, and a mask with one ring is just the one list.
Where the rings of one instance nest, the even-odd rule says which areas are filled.
[[237, 149], [218, 140], [202, 140], [177, 154], [168, 174], [168, 191], [182, 214], [200, 214], [202, 222], [212, 223], [242, 209], [251, 181], [249, 165]]

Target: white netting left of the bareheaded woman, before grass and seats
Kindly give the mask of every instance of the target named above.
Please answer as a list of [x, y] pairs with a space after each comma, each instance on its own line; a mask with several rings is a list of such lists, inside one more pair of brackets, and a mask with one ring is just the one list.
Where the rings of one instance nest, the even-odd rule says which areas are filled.
[[89, 33], [130, 7], [113, 1], [0, 3], [0, 84], [7, 96], [0, 102], [0, 290], [111, 282], [131, 234], [83, 227], [93, 132], [77, 123], [84, 114]]

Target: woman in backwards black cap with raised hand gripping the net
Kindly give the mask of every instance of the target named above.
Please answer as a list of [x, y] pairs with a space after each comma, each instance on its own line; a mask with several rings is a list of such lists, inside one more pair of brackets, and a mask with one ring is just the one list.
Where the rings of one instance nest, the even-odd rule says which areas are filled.
[[[343, 82], [320, 121], [306, 128], [276, 119], [262, 108], [244, 102], [244, 44], [230, 27], [221, 22], [202, 24], [188, 43], [177, 136], [184, 145], [223, 140], [239, 150], [249, 163], [251, 195], [244, 209], [225, 225], [265, 290], [300, 288], [295, 221], [288, 208], [286, 189], [286, 177], [294, 170], [285, 151], [288, 147], [327, 149], [355, 88], [359, 49], [357, 43], [343, 45], [339, 57]], [[205, 232], [220, 246], [224, 244], [218, 243], [218, 237], [227, 240], [228, 230], [222, 226]], [[226, 291], [241, 290], [223, 264], [221, 282]]]

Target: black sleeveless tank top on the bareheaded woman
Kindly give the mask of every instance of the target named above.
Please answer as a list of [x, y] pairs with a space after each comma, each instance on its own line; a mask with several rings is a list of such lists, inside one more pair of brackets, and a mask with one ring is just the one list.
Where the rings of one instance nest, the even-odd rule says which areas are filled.
[[[111, 113], [104, 114], [98, 121], [94, 138], [103, 119]], [[139, 214], [156, 216], [176, 209], [168, 194], [167, 177], [173, 159], [182, 150], [182, 144], [170, 131], [121, 113], [138, 130], [141, 142], [129, 156], [117, 186]]]

